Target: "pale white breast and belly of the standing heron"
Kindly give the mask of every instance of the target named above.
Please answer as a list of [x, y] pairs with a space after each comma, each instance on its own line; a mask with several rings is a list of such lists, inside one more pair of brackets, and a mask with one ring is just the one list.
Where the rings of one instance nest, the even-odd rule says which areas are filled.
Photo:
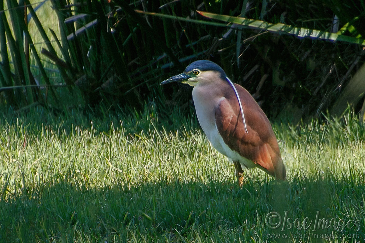
[[206, 104], [210, 103], [210, 101], [200, 99], [198, 95], [194, 95], [194, 90], [193, 90], [194, 106], [199, 124], [203, 129], [205, 135], [207, 136], [208, 140], [211, 142], [213, 147], [216, 150], [218, 150], [219, 153], [227, 156], [231, 162], [239, 161], [242, 166], [242, 169], [253, 168], [255, 167], [254, 162], [248, 160], [245, 157], [242, 157], [237, 152], [230, 149], [228, 145], [224, 143], [222, 136], [220, 136], [218, 132], [217, 126], [215, 124], [214, 107], [218, 105], [218, 103], [222, 101], [222, 99], [225, 98], [221, 97], [220, 99], [216, 99], [216, 102], [214, 102], [214, 104], [212, 104], [212, 106], [209, 107]]

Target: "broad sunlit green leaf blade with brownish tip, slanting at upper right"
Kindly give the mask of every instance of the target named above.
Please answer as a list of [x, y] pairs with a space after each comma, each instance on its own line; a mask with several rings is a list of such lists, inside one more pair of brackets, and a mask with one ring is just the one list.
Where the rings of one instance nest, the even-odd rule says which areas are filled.
[[242, 17], [233, 17], [228, 15], [219, 15], [216, 13], [209, 13], [203, 11], [197, 11], [200, 15], [204, 17], [208, 17], [211, 19], [231, 22], [235, 24], [241, 24], [243, 26], [249, 28], [255, 28], [259, 30], [270, 31], [277, 34], [288, 34], [288, 35], [295, 35], [299, 38], [313, 38], [313, 39], [323, 39], [323, 40], [330, 40], [333, 42], [342, 41], [348, 42], [353, 44], [360, 44], [365, 46], [365, 40], [360, 38], [354, 38], [351, 36], [344, 36], [339, 35], [337, 33], [331, 33], [327, 31], [320, 31], [320, 30], [311, 30], [307, 28], [298, 28], [293, 27], [283, 23], [269, 23], [266, 21], [255, 20], [255, 19], [247, 19]]

